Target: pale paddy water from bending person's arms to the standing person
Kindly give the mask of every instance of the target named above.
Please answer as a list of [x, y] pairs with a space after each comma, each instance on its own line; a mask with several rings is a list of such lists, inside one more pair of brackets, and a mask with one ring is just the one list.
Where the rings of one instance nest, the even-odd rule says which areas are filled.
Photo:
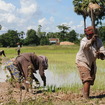
[[[54, 74], [50, 70], [45, 71], [46, 82], [48, 86], [72, 86], [73, 84], [81, 84], [81, 80], [76, 72], [72, 72], [70, 74]], [[39, 79], [41, 85], [43, 85], [42, 80], [37, 72], [35, 76]]]

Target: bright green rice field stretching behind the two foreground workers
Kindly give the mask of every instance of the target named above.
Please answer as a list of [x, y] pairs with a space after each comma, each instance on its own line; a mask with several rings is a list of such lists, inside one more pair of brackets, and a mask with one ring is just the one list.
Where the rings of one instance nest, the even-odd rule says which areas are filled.
[[[5, 50], [6, 58], [3, 59], [10, 59], [17, 56], [16, 48], [0, 48]], [[21, 53], [25, 52], [35, 52], [36, 55], [45, 55], [48, 58], [49, 62], [49, 70], [52, 71], [54, 74], [70, 74], [72, 72], [78, 72], [76, 65], [75, 65], [75, 56], [78, 52], [79, 46], [71, 45], [71, 46], [59, 46], [59, 45], [51, 45], [51, 46], [35, 46], [35, 47], [25, 47], [21, 48]], [[105, 61], [97, 60], [97, 75], [95, 84], [93, 89], [105, 89]], [[77, 73], [78, 74], [78, 73]], [[62, 77], [63, 78], [63, 77]], [[76, 77], [75, 77], [76, 78]], [[71, 81], [71, 80], [70, 80]], [[76, 82], [76, 81], [75, 81]], [[101, 84], [100, 84], [101, 83]], [[80, 88], [77, 84], [74, 88]], [[81, 86], [81, 84], [80, 84]], [[69, 88], [67, 86], [67, 88]]]

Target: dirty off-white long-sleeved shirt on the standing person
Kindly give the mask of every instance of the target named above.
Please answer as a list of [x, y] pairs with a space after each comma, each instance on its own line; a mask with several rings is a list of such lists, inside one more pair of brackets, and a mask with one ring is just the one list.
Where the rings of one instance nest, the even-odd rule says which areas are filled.
[[76, 55], [76, 64], [87, 67], [91, 70], [92, 64], [96, 68], [96, 52], [100, 51], [105, 55], [105, 49], [101, 39], [97, 37], [96, 41], [92, 43], [92, 39], [88, 40], [84, 37], [80, 43], [80, 49]]

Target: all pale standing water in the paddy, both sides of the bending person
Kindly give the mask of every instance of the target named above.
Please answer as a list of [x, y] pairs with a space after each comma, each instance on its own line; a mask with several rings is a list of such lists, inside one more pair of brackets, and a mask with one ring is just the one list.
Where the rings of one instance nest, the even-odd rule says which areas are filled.
[[[8, 72], [8, 70], [3, 70], [4, 69], [4, 65], [0, 66], [0, 82], [5, 82], [7, 79], [7, 75], [10, 76], [10, 73]], [[37, 71], [37, 74], [34, 74], [41, 86], [43, 86], [43, 82], [40, 78], [40, 75]], [[66, 86], [66, 85], [73, 85], [73, 84], [81, 84], [80, 78], [78, 76], [78, 74], [76, 72], [72, 72], [70, 74], [54, 74], [53, 72], [51, 72], [50, 70], [46, 70], [45, 71], [45, 75], [46, 75], [46, 82], [48, 86], [56, 86], [56, 87], [61, 87], [62, 85]]]

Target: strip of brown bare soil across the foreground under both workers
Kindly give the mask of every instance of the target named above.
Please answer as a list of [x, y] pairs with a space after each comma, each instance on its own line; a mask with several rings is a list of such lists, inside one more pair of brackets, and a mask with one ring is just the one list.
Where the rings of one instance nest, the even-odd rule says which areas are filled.
[[[34, 93], [26, 92], [25, 90], [19, 90], [13, 88], [7, 82], [0, 83], [0, 105], [7, 103], [10, 100], [16, 100], [22, 102], [23, 100], [43, 99], [43, 102], [51, 101], [51, 105], [105, 105], [105, 91], [92, 91], [90, 99], [83, 98], [81, 91], [79, 93], [73, 92], [47, 92], [41, 90], [34, 90]], [[45, 105], [45, 104], [44, 104]], [[50, 104], [46, 104], [50, 105]]]

